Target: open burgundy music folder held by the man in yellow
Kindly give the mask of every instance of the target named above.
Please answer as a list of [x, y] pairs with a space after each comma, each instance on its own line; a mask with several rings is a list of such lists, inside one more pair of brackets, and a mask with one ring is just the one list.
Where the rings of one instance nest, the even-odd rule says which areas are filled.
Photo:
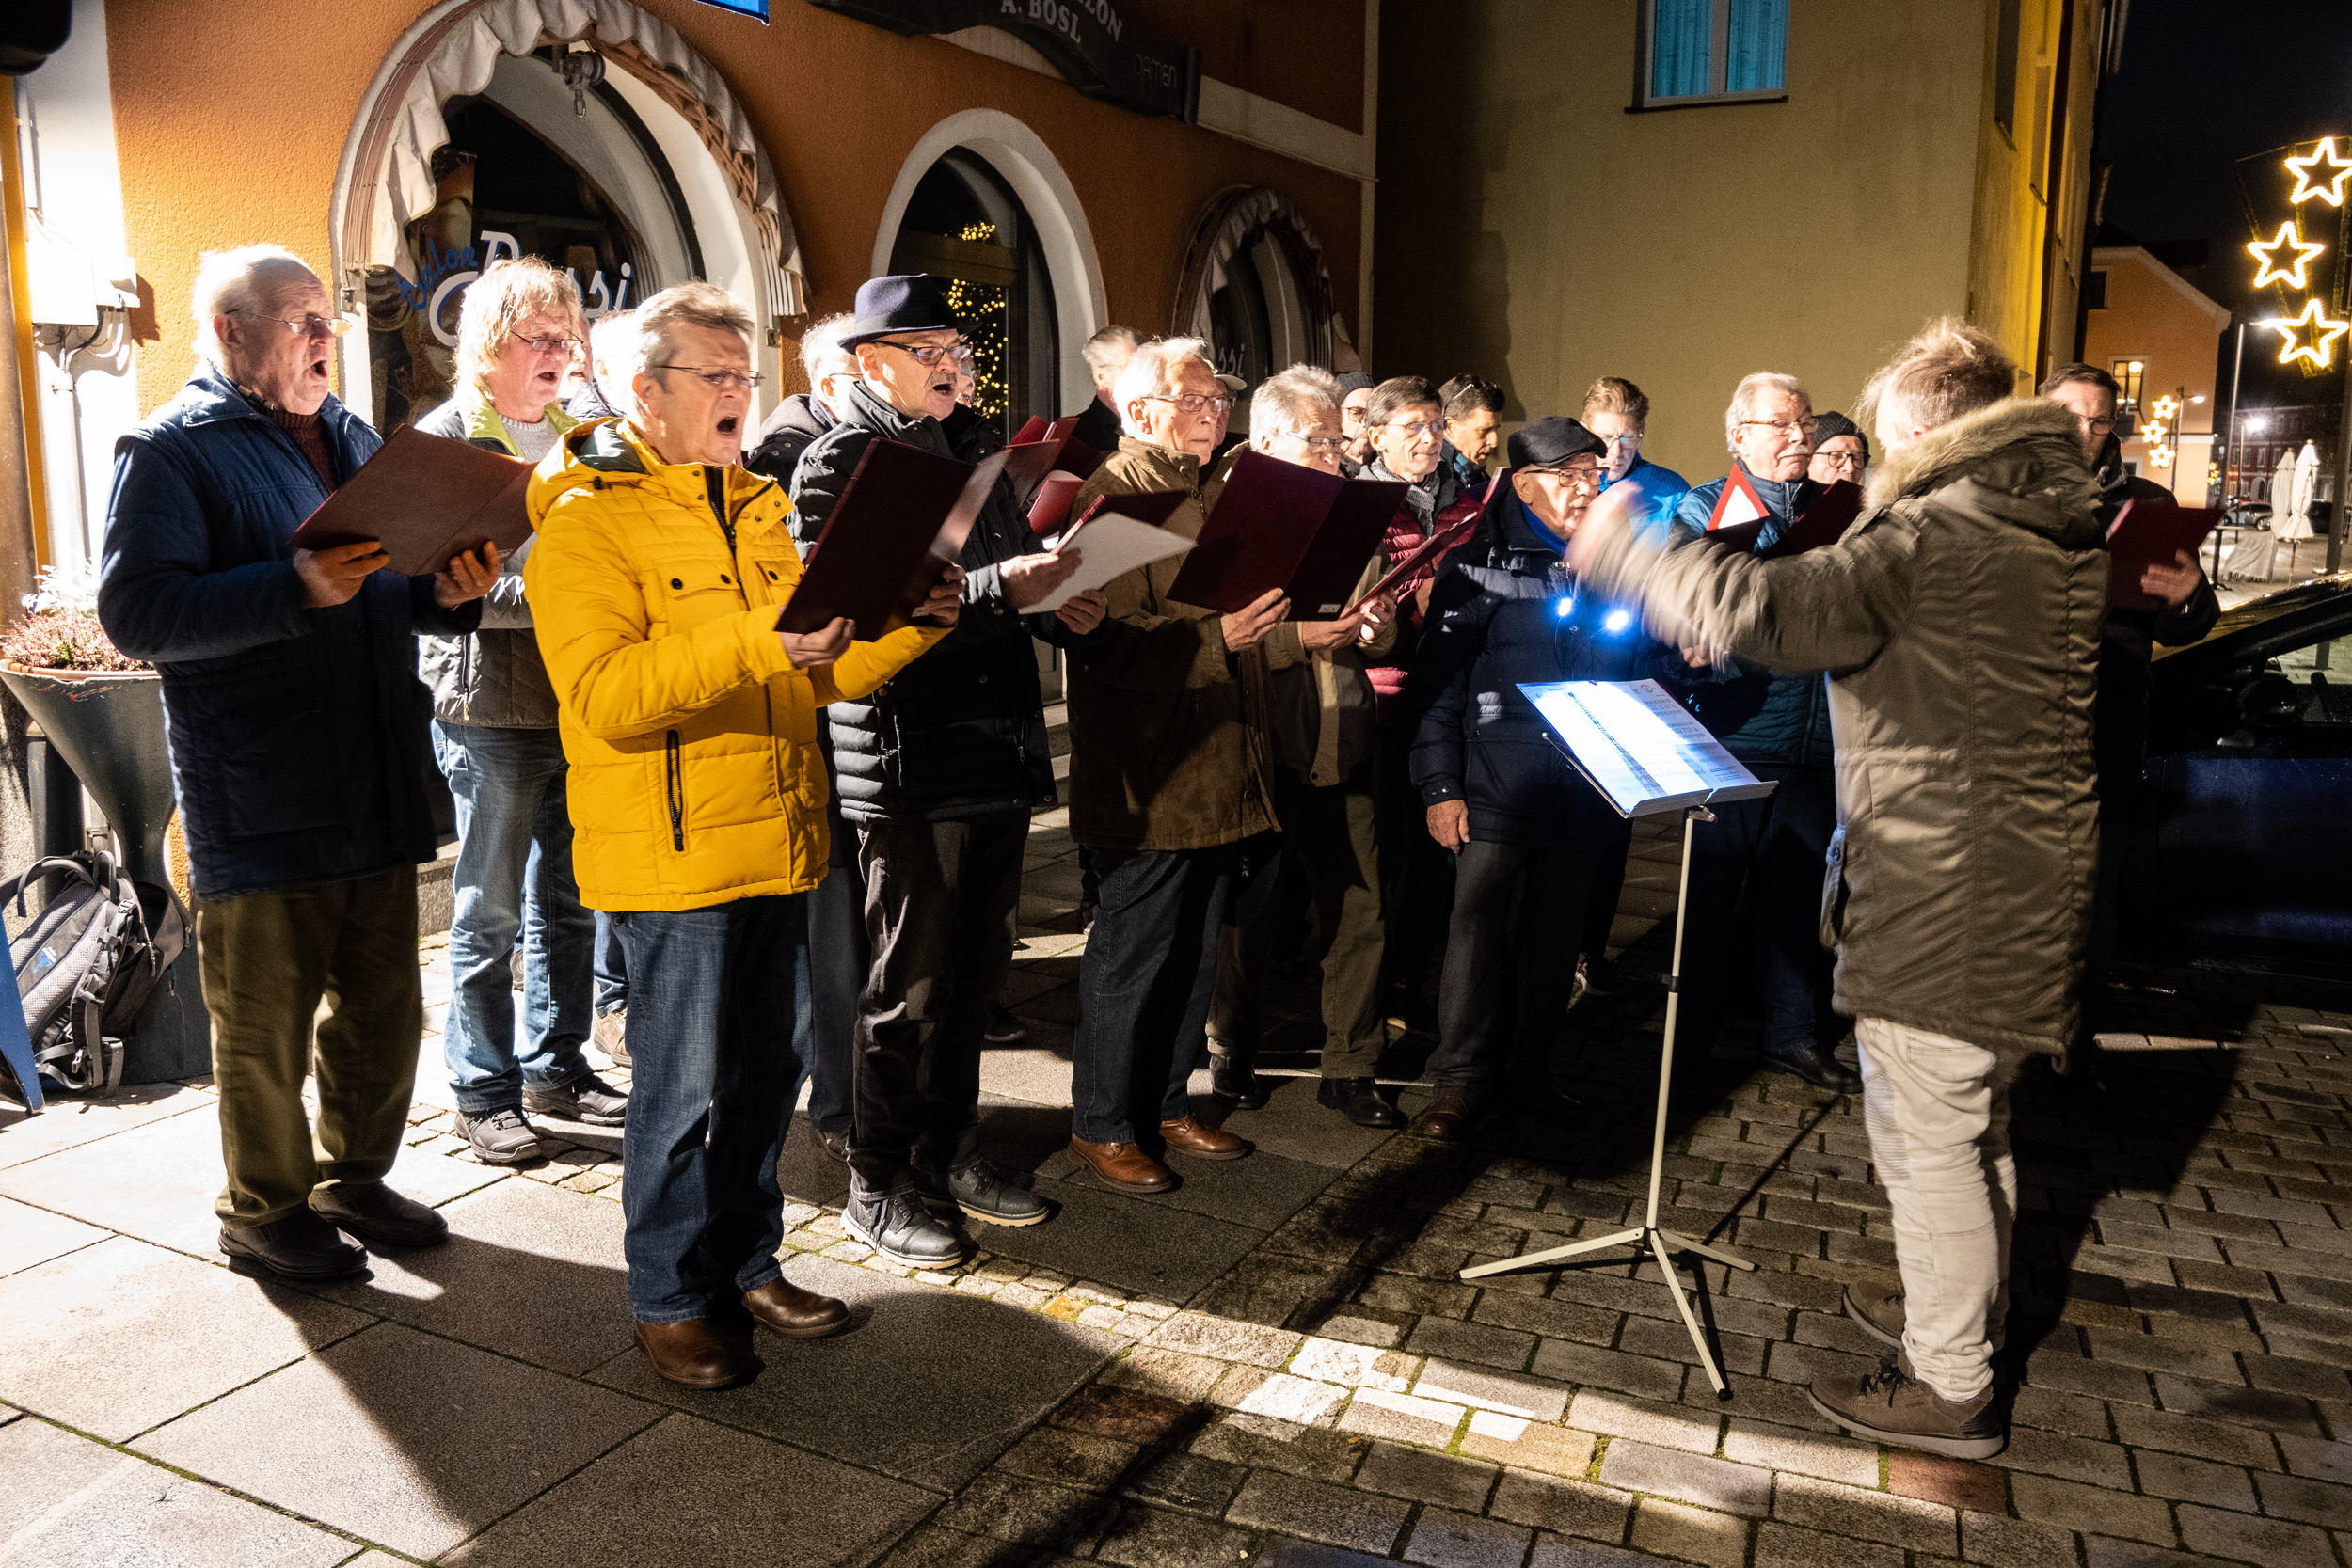
[[974, 465], [906, 442], [868, 442], [776, 630], [818, 632], [849, 616], [858, 642], [877, 639], [964, 552], [1000, 473], [1002, 451]]

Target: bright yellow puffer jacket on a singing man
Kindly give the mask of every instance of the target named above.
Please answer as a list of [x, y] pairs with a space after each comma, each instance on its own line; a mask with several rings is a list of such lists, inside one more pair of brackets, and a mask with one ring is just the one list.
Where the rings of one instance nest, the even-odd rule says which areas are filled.
[[555, 444], [529, 508], [522, 581], [572, 764], [581, 900], [701, 910], [823, 882], [816, 710], [880, 689], [946, 630], [896, 628], [795, 670], [776, 637], [800, 583], [783, 487], [663, 463], [616, 418]]

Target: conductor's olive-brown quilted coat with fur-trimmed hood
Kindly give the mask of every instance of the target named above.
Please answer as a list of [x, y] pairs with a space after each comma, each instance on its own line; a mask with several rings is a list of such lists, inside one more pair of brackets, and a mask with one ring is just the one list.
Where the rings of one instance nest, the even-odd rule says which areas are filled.
[[2107, 609], [2074, 416], [2009, 400], [1870, 470], [1846, 536], [1792, 559], [1658, 555], [1588, 576], [1672, 642], [1828, 670], [1837, 1011], [2063, 1051], [2098, 863], [2091, 703]]

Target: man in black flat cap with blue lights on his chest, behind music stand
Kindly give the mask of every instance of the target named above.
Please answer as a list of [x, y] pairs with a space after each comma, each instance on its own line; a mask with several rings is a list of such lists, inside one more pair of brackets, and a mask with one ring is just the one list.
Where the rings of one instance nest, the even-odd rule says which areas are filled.
[[1595, 867], [1625, 818], [1550, 743], [1519, 682], [1684, 682], [1682, 654], [1625, 607], [1583, 592], [1564, 550], [1599, 494], [1606, 444], [1573, 418], [1510, 437], [1510, 482], [1439, 571], [1406, 682], [1421, 715], [1414, 785], [1454, 860], [1454, 919], [1437, 983], [1430, 1138], [1461, 1138], [1505, 1095], [1566, 1114], [1552, 1046], [1566, 1025]]

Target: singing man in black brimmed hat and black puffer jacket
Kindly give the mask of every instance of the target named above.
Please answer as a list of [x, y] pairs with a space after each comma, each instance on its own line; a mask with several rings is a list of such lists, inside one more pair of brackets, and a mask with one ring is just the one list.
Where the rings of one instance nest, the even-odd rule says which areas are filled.
[[[842, 331], [858, 378], [842, 421], [793, 470], [793, 529], [814, 548], [875, 440], [955, 456], [964, 334], [946, 282], [873, 277]], [[851, 1194], [842, 1227], [891, 1262], [962, 1255], [943, 1222], [1037, 1225], [1047, 1206], [981, 1157], [981, 1030], [1004, 985], [1021, 900], [1030, 809], [1054, 802], [1051, 752], [1030, 635], [1061, 642], [1103, 621], [1084, 592], [1023, 616], [1077, 569], [1047, 555], [997, 484], [964, 541], [964, 602], [936, 658], [908, 665], [861, 703], [835, 703], [833, 766], [858, 832], [873, 969], [858, 999]]]

